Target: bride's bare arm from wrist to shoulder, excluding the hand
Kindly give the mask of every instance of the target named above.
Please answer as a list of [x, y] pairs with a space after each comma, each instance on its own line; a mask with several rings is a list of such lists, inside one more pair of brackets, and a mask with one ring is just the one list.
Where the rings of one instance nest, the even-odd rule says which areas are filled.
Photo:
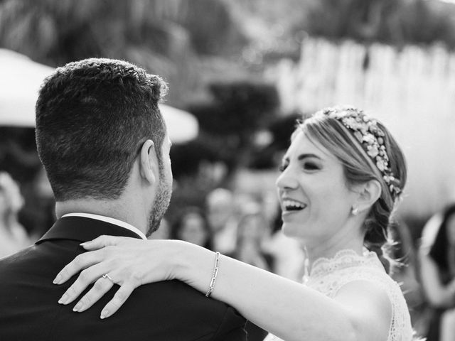
[[[181, 254], [185, 256], [176, 271], [180, 274], [178, 279], [204, 293], [213, 269], [213, 252], [191, 247]], [[359, 281], [346, 286], [336, 301], [300, 283], [225, 256], [220, 258], [212, 296], [289, 341], [376, 340], [381, 334], [377, 340], [386, 340], [390, 325], [388, 298], [369, 283], [365, 286]], [[385, 313], [380, 311], [384, 306]]]

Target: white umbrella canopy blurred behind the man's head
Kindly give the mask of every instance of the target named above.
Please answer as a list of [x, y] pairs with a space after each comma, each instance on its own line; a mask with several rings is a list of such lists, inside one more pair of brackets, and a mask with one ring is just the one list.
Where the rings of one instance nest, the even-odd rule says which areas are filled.
[[[53, 67], [33, 62], [26, 55], [0, 49], [0, 126], [34, 126], [35, 102], [44, 78]], [[173, 143], [194, 139], [198, 121], [192, 114], [160, 104]]]

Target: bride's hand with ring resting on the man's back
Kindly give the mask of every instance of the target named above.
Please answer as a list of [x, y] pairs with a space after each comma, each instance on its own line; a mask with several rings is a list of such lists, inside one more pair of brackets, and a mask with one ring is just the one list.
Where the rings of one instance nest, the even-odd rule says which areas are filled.
[[[76, 281], [68, 288], [58, 303], [73, 302], [91, 283], [94, 286], [75, 305], [74, 311], [82, 312], [97, 302], [114, 284], [120, 286], [105, 308], [101, 318], [115, 313], [135, 288], [145, 283], [176, 278], [171, 261], [182, 242], [147, 240], [127, 237], [101, 236], [81, 246], [89, 252], [80, 254], [67, 264], [53, 283], [68, 281], [79, 271]], [[151, 261], [153, 260], [153, 261]]]

